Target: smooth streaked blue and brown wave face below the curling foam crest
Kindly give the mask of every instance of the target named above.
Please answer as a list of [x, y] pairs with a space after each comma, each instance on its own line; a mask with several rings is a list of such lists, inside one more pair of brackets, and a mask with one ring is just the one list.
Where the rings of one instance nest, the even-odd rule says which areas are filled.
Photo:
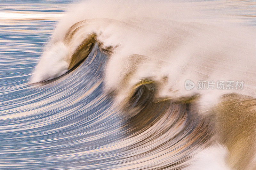
[[[8, 149], [2, 150], [2, 169], [188, 166], [193, 151], [211, 137], [207, 123], [195, 119], [186, 105], [170, 100], [153, 102], [124, 119], [123, 111], [103, 91], [106, 61], [94, 46], [72, 73], [27, 90], [33, 95], [20, 96], [22, 103], [3, 102], [1, 146]], [[152, 91], [144, 87], [142, 93], [150, 96]]]

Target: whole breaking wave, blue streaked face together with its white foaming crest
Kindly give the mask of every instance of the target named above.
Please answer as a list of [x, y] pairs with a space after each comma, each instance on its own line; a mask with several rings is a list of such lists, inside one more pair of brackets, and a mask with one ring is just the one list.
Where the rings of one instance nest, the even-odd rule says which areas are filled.
[[[211, 26], [215, 14], [190, 5], [75, 5], [33, 71], [33, 88], [2, 95], [1, 169], [229, 169], [228, 154], [230, 167], [253, 167], [220, 136], [235, 124], [221, 114], [232, 112], [226, 101], [239, 105], [247, 95], [241, 108], [254, 105], [255, 32], [222, 27], [225, 19]], [[246, 83], [187, 91], [187, 79]], [[243, 97], [220, 97], [231, 92]]]

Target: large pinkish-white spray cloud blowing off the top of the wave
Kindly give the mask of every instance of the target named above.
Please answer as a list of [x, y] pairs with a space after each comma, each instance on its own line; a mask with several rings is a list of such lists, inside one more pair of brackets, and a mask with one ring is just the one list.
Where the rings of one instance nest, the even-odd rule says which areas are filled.
[[[107, 90], [117, 92], [118, 101], [127, 97], [133, 85], [143, 78], [159, 82], [160, 97], [179, 100], [195, 93], [211, 96], [209, 101], [207, 97], [202, 98], [202, 112], [224, 93], [256, 97], [255, 31], [234, 26], [243, 20], [225, 16], [230, 14], [228, 10], [214, 10], [218, 3], [85, 1], [75, 4], [55, 29], [51, 41], [54, 50], [44, 53], [33, 80], [43, 81], [65, 72], [70, 54], [88, 33], [94, 32], [103, 47], [117, 47], [107, 63], [105, 84]], [[228, 1], [221, 3], [222, 7], [234, 5]], [[64, 41], [69, 27], [84, 19], [89, 19], [86, 26], [76, 32], [67, 48], [62, 45], [57, 52], [55, 48]], [[68, 58], [63, 57], [67, 53]], [[136, 56], [131, 57], [133, 54]], [[52, 62], [56, 64], [49, 69]], [[127, 79], [128, 74], [132, 76]], [[163, 82], [163, 77], [168, 78], [167, 82]], [[244, 87], [243, 90], [194, 88], [188, 91], [184, 88], [187, 79], [243, 80]]]

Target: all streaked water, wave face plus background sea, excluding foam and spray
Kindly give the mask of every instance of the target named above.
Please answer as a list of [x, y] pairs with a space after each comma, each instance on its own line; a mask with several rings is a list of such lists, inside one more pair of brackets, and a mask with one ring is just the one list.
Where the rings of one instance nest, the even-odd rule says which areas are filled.
[[[206, 128], [210, 125], [195, 119], [185, 104], [171, 100], [150, 106], [144, 103], [139, 114], [124, 118], [128, 111], [105, 91], [109, 58], [99, 47], [94, 46], [86, 60], [69, 74], [44, 85], [29, 84], [45, 47], [51, 46], [57, 22], [73, 2], [0, 2], [0, 169], [188, 166], [195, 149], [210, 143], [211, 129]], [[255, 1], [200, 3], [195, 1], [197, 7], [225, 19], [196, 18], [197, 22], [208, 20], [222, 26], [230, 21], [237, 27], [255, 29]], [[54, 66], [49, 67], [50, 72]], [[107, 79], [118, 78], [107, 75]], [[151, 87], [143, 88], [135, 94], [143, 96]]]

